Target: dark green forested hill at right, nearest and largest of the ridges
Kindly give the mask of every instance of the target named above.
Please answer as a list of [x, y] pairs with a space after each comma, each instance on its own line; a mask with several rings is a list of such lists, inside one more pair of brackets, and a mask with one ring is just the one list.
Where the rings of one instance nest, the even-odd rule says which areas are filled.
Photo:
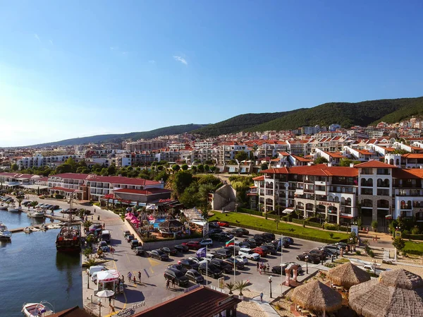
[[423, 114], [423, 97], [369, 100], [363, 102], [330, 102], [309, 109], [286, 114], [263, 124], [257, 124], [247, 131], [290, 130], [300, 126], [329, 126], [341, 124], [367, 126], [375, 122], [394, 123], [412, 115]]

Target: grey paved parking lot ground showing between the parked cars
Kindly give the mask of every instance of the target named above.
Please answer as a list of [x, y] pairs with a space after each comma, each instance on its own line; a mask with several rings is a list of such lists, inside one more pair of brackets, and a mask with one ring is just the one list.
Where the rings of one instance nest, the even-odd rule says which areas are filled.
[[[132, 304], [138, 303], [140, 301], [145, 301], [145, 307], [151, 307], [155, 304], [159, 304], [167, 299], [178, 296], [184, 292], [185, 287], [178, 287], [177, 285], [169, 287], [166, 289], [166, 280], [164, 279], [164, 271], [166, 270], [169, 264], [176, 264], [179, 260], [183, 258], [189, 258], [191, 256], [196, 256], [195, 250], [190, 250], [186, 253], [178, 253], [176, 256], [169, 256], [168, 261], [159, 261], [155, 258], [151, 258], [147, 255], [136, 256], [135, 252], [130, 249], [130, 244], [125, 241], [123, 234], [125, 230], [128, 229], [123, 223], [110, 225], [107, 227], [111, 231], [111, 245], [114, 246], [114, 254], [107, 254], [106, 258], [114, 259], [113, 262], [107, 264], [108, 268], [117, 269], [125, 277], [125, 295], [118, 295], [116, 297], [116, 309], [123, 309], [124, 307], [131, 306]], [[222, 228], [225, 232], [233, 229], [233, 227]], [[254, 234], [262, 233], [255, 230], [249, 230], [250, 233], [248, 236], [243, 238], [235, 238], [235, 241], [243, 240], [246, 237], [253, 237]], [[276, 237], [278, 239], [278, 237]], [[276, 255], [268, 255], [265, 258], [261, 258], [260, 261], [263, 261], [264, 264], [269, 263], [270, 268], [274, 265], [280, 265], [281, 261], [285, 262], [298, 262], [302, 265], [302, 268], [305, 270], [305, 263], [297, 261], [295, 257], [298, 253], [308, 251], [317, 246], [321, 246], [320, 242], [305, 241], [300, 239], [294, 239], [295, 243], [290, 246], [288, 249], [283, 250], [283, 255], [281, 258], [281, 252], [277, 252]], [[177, 241], [175, 244], [178, 244]], [[214, 241], [214, 246], [209, 248], [209, 253], [212, 253], [214, 250], [219, 249], [224, 246], [224, 242]], [[254, 292], [263, 292], [264, 294], [269, 294], [269, 275], [273, 278], [273, 294], [277, 296], [281, 292], [281, 275], [270, 274], [260, 274], [257, 271], [257, 262], [249, 261], [245, 268], [242, 270], [235, 270], [235, 282], [236, 281], [249, 281], [250, 286], [248, 289]], [[309, 264], [309, 273], [312, 273], [315, 270], [316, 265]], [[133, 275], [137, 276], [138, 272], [141, 272], [142, 278], [141, 282], [138, 281], [134, 284], [133, 282], [128, 281], [128, 272], [131, 272]], [[304, 276], [305, 273], [302, 273]], [[223, 274], [225, 282], [233, 282], [234, 275]], [[218, 280], [212, 277], [206, 277], [208, 285], [218, 286]], [[285, 277], [283, 277], [284, 280]], [[302, 277], [300, 277], [302, 279]], [[85, 283], [87, 281], [85, 280]], [[194, 283], [190, 282], [188, 287], [193, 286]], [[144, 308], [137, 309], [141, 311]]]

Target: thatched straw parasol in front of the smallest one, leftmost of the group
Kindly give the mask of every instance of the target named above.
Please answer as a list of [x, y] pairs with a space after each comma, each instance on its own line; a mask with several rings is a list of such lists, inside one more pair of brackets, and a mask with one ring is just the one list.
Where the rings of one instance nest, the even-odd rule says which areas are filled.
[[293, 302], [313, 311], [336, 311], [342, 306], [342, 296], [319, 280], [295, 287]]

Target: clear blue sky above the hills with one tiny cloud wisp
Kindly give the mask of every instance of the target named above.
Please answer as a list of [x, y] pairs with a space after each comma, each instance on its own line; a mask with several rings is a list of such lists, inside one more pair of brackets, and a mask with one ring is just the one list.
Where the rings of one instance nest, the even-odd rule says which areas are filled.
[[0, 0], [0, 146], [421, 95], [420, 0]]

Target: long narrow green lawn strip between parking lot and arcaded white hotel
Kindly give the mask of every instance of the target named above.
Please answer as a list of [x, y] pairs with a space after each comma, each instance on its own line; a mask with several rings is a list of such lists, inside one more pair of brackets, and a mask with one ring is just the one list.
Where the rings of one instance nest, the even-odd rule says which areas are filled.
[[[273, 232], [274, 234], [283, 234], [288, 237], [297, 237], [300, 239], [321, 241], [324, 243], [333, 243], [341, 240], [347, 240], [348, 234], [341, 232], [328, 232], [317, 230], [310, 227], [302, 227], [291, 225], [286, 222], [279, 222], [278, 229], [276, 229], [276, 222], [274, 220], [266, 220], [264, 218], [255, 217], [241, 213], [219, 213], [213, 211], [214, 216], [209, 218], [212, 220], [224, 220], [231, 225], [238, 227], [245, 227], [247, 229], [257, 229], [259, 231]], [[333, 234], [333, 237], [331, 237]]]

